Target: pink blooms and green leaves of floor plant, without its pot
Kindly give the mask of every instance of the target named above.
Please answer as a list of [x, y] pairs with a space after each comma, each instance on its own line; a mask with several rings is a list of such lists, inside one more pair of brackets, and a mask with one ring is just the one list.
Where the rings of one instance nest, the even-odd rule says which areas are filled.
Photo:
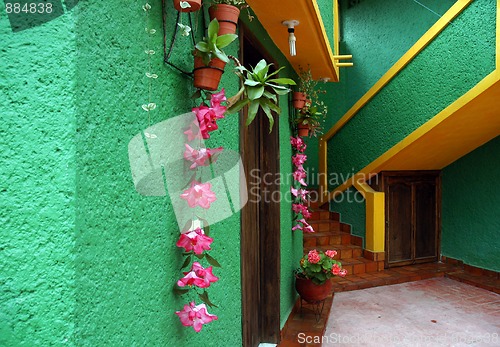
[[300, 268], [295, 270], [295, 276], [311, 280], [316, 285], [322, 285], [333, 276], [344, 277], [347, 271], [342, 268], [340, 261], [335, 260], [335, 250], [313, 249], [300, 259]]

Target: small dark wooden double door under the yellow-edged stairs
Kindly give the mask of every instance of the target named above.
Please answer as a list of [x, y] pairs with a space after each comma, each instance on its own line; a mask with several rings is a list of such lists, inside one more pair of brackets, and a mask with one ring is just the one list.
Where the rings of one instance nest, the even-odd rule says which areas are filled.
[[386, 267], [436, 261], [439, 172], [384, 172], [382, 177], [386, 193]]

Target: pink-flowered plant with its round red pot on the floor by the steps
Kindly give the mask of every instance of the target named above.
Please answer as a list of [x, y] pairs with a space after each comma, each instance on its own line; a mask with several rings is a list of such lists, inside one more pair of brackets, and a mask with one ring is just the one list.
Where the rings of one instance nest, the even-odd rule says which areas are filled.
[[300, 268], [295, 270], [295, 289], [300, 297], [309, 303], [318, 303], [332, 293], [333, 276], [347, 274], [342, 264], [335, 260], [337, 252], [312, 250], [300, 260]]

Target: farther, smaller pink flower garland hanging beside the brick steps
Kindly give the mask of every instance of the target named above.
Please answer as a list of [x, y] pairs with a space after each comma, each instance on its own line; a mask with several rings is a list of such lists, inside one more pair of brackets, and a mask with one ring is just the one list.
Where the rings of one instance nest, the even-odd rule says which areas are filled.
[[307, 160], [307, 155], [305, 155], [304, 152], [307, 145], [300, 136], [291, 137], [290, 143], [296, 152], [292, 156], [292, 163], [295, 166], [295, 171], [292, 174], [294, 183], [290, 189], [295, 199], [292, 204], [292, 210], [295, 213], [294, 221], [296, 224], [292, 230], [302, 230], [306, 233], [313, 233], [313, 227], [307, 222], [307, 219], [311, 218], [311, 212], [306, 205], [309, 198], [309, 191], [303, 188], [307, 186], [307, 183], [304, 181], [307, 176], [304, 170], [304, 163]]

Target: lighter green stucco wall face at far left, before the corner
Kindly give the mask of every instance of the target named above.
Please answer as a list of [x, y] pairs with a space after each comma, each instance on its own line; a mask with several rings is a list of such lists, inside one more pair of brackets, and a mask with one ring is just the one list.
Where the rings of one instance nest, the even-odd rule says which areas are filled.
[[1, 5], [0, 345], [74, 345], [74, 18], [12, 32]]

